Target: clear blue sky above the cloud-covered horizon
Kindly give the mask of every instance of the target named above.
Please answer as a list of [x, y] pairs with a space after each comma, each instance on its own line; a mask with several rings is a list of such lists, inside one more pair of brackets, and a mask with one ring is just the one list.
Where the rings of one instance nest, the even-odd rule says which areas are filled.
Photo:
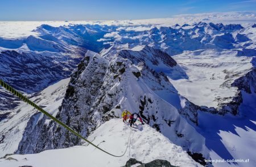
[[256, 0], [3, 0], [0, 20], [150, 19], [255, 9]]

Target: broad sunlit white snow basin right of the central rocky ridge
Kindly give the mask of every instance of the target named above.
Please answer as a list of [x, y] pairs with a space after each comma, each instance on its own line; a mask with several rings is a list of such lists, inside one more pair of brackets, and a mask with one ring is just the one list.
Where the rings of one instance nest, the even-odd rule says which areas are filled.
[[217, 108], [236, 96], [237, 87], [232, 87], [234, 80], [254, 68], [251, 57], [236, 54], [230, 50], [197, 50], [175, 55], [173, 58], [185, 67], [188, 79], [171, 79], [171, 83], [191, 102]]

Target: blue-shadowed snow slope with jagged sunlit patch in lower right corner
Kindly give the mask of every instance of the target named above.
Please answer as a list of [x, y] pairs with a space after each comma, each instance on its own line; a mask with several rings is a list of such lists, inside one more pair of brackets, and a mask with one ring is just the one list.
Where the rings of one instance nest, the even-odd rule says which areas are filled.
[[[250, 82], [248, 80], [248, 82]], [[213, 163], [213, 166], [255, 166], [256, 140], [256, 92], [251, 87], [251, 93], [242, 91], [243, 102], [240, 115], [218, 115], [199, 113], [197, 131], [205, 138], [205, 145], [210, 150], [213, 160], [249, 159], [249, 162], [228, 164]]]

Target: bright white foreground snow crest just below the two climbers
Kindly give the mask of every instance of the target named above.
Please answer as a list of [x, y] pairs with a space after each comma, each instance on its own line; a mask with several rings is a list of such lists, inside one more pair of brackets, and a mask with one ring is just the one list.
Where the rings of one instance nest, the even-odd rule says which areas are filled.
[[[139, 125], [140, 123], [137, 123]], [[130, 137], [130, 140], [129, 140]], [[201, 166], [193, 161], [180, 146], [144, 125], [142, 129], [130, 128], [122, 119], [110, 119], [98, 127], [88, 140], [123, 157], [112, 157], [85, 143], [81, 146], [55, 149], [31, 155], [11, 155], [0, 159], [0, 166], [123, 166], [130, 158], [142, 162], [162, 159], [175, 166]], [[6, 160], [12, 157], [16, 160]]]

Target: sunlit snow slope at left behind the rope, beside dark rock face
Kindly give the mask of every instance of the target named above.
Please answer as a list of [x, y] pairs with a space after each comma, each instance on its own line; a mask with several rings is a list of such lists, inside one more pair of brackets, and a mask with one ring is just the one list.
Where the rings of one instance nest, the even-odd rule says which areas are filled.
[[[36, 102], [36, 104], [46, 109], [49, 113], [56, 115], [56, 111], [65, 95], [69, 80], [70, 78], [63, 79], [56, 84], [50, 85], [42, 92], [32, 96], [30, 100]], [[38, 113], [32, 106], [20, 100], [19, 106], [5, 112], [10, 113], [6, 118], [0, 120], [0, 157], [5, 156], [7, 153], [14, 153], [18, 149], [18, 144], [22, 139], [28, 120], [33, 114]], [[38, 120], [35, 120], [35, 124], [36, 121]]]

